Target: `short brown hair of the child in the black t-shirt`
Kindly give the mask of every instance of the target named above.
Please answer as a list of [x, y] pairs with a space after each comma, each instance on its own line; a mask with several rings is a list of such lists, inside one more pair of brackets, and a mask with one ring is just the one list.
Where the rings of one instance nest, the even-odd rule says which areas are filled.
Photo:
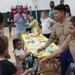
[[8, 38], [4, 35], [0, 35], [0, 54], [4, 54], [6, 49], [8, 49]]

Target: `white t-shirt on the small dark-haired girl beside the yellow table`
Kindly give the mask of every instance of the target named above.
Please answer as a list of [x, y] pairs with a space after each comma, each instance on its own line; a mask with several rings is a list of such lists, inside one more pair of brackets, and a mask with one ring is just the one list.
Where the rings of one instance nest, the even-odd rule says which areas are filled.
[[24, 55], [25, 55], [24, 50], [23, 50], [23, 49], [21, 49], [21, 50], [15, 49], [15, 50], [14, 50], [14, 55], [15, 55], [17, 67], [22, 67], [23, 61], [20, 61], [20, 60], [17, 58], [17, 56], [19, 56], [19, 55], [24, 56]]

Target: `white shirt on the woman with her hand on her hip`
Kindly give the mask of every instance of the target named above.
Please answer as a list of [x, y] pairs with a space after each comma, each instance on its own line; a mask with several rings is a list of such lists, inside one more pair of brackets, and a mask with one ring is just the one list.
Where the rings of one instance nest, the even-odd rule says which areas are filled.
[[46, 19], [42, 19], [41, 20], [41, 23], [42, 23], [42, 33], [43, 34], [49, 34], [51, 33], [51, 29], [50, 29], [50, 26], [51, 26], [51, 22], [54, 21], [52, 20], [51, 18], [46, 18]]

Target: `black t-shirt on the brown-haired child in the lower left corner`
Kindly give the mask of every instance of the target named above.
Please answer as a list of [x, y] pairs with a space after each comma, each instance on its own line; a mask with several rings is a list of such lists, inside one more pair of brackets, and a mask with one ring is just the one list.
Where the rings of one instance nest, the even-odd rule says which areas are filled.
[[17, 72], [16, 67], [7, 59], [0, 60], [2, 75], [12, 75]]

